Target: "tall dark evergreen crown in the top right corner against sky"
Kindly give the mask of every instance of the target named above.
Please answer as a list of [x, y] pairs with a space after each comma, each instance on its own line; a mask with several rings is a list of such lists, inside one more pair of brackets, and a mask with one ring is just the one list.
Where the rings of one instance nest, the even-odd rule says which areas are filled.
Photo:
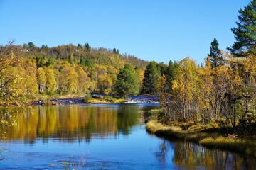
[[253, 0], [240, 9], [238, 14], [239, 22], [236, 22], [238, 28], [232, 28], [236, 41], [228, 50], [236, 56], [243, 56], [249, 52], [256, 52], [256, 0]]

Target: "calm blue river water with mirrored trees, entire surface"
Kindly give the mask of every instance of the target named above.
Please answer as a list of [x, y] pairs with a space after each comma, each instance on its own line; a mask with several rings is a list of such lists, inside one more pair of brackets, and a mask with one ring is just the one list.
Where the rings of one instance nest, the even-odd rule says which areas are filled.
[[1, 125], [0, 169], [254, 169], [256, 159], [147, 134], [156, 104], [36, 106]]

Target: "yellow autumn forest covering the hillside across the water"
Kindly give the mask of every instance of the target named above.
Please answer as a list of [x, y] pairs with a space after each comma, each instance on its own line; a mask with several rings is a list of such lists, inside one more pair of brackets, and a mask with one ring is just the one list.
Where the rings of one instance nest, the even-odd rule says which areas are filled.
[[120, 69], [130, 65], [136, 88], [142, 89], [148, 62], [132, 55], [120, 55], [117, 49], [92, 48], [89, 44], [36, 47], [24, 45], [0, 47], [1, 102], [25, 100], [38, 94], [74, 94], [86, 91], [117, 93], [115, 84]]

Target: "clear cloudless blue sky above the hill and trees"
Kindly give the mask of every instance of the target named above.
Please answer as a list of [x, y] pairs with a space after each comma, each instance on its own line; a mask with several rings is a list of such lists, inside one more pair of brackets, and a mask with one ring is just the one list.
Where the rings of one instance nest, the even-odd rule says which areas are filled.
[[89, 43], [121, 54], [168, 63], [189, 56], [198, 64], [218, 40], [235, 41], [231, 28], [250, 0], [0, 0], [0, 45], [48, 47]]

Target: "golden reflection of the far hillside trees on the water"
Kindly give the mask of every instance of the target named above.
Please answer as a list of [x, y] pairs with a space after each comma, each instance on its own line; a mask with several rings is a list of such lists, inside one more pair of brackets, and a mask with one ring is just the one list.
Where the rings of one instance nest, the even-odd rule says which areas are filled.
[[[137, 105], [37, 106], [33, 111], [16, 114], [13, 118], [17, 125], [1, 126], [0, 130], [6, 132], [6, 139], [28, 143], [33, 143], [36, 137], [41, 137], [43, 142], [49, 137], [68, 142], [89, 142], [92, 137], [128, 135], [131, 127], [137, 125], [138, 117]], [[11, 123], [4, 115], [1, 119]]]

